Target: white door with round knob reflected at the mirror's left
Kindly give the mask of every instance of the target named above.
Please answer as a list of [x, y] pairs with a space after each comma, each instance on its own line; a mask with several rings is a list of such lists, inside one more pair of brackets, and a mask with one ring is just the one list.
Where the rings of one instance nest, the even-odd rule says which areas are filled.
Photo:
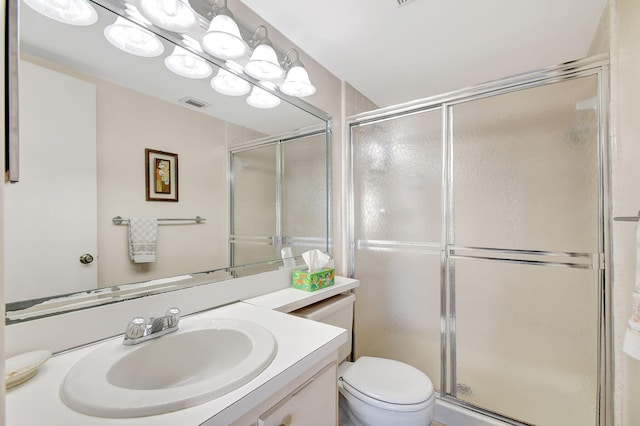
[[19, 130], [20, 182], [4, 192], [5, 300], [96, 288], [95, 85], [21, 61]]

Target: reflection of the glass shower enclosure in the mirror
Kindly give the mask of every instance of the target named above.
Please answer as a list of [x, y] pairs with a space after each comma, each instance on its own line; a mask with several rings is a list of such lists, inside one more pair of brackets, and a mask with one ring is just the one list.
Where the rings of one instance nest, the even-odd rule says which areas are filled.
[[330, 251], [329, 139], [325, 129], [233, 147], [231, 266], [237, 276], [272, 270], [281, 249], [292, 256]]

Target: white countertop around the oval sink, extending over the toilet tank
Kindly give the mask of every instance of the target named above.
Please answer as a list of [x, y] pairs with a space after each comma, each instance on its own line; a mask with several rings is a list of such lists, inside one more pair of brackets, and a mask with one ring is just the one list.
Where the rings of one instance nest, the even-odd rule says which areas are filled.
[[[297, 309], [298, 305], [298, 307], [302, 307], [314, 303], [347, 291], [357, 284], [358, 282], [354, 280], [337, 278], [334, 286], [316, 292], [285, 289], [248, 299], [247, 302], [238, 302], [183, 318], [181, 321], [184, 322], [202, 318], [243, 319], [262, 325], [271, 331], [276, 338], [278, 353], [273, 362], [258, 377], [224, 396], [195, 407], [139, 418], [100, 418], [75, 412], [60, 399], [60, 385], [75, 362], [95, 350], [101, 344], [98, 343], [53, 356], [40, 367], [40, 371], [35, 377], [22, 385], [7, 390], [7, 425], [188, 426], [199, 425], [212, 419], [209, 424], [226, 426], [285, 386], [289, 381], [303, 374], [315, 363], [330, 356], [338, 350], [341, 344], [347, 341], [346, 331], [341, 328], [276, 312], [271, 310], [269, 306], [266, 306], [265, 309], [265, 307], [256, 305], [260, 304], [260, 301], [265, 303], [270, 301], [271, 304], [275, 304], [276, 309], [285, 311], [290, 307]], [[276, 293], [281, 294], [276, 295]], [[283, 301], [284, 303], [281, 303]], [[114, 339], [122, 339], [122, 336]], [[224, 349], [221, 348], [221, 350]]]

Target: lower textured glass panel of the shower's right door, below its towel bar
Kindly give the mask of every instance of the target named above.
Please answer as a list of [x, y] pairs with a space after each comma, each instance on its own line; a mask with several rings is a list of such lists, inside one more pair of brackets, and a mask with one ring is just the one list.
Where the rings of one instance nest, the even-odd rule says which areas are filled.
[[455, 261], [458, 398], [538, 426], [595, 424], [598, 271]]

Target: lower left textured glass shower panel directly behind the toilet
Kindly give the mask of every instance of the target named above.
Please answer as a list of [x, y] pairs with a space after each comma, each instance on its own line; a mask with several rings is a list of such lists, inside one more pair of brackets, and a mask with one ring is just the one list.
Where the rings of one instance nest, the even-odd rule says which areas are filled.
[[355, 356], [424, 371], [440, 387], [440, 256], [356, 251]]

